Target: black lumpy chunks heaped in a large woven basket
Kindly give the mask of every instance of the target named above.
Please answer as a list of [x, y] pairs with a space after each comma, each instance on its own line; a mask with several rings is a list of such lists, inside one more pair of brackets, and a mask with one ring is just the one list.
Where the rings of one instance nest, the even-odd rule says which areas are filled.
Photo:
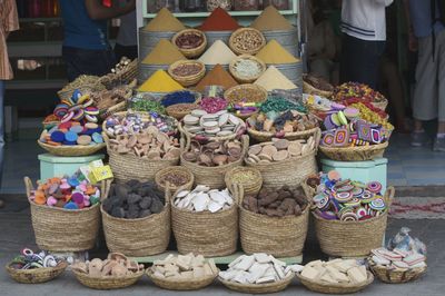
[[103, 210], [116, 218], [137, 219], [162, 211], [164, 194], [151, 182], [130, 180], [111, 185], [109, 197], [102, 201]]

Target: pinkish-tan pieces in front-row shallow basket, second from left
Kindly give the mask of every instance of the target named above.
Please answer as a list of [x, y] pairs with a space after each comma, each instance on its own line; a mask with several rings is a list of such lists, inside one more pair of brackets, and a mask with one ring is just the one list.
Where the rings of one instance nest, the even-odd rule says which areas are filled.
[[106, 260], [95, 258], [90, 262], [76, 263], [71, 268], [90, 277], [116, 277], [121, 278], [144, 272], [144, 265], [128, 259], [119, 253], [110, 253]]

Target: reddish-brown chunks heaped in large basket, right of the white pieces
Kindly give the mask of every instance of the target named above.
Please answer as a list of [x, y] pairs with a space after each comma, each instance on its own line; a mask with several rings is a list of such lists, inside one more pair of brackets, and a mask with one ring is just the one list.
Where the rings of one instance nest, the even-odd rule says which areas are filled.
[[301, 189], [290, 190], [287, 186], [279, 188], [263, 188], [258, 196], [247, 196], [243, 207], [255, 214], [269, 217], [299, 216], [308, 206]]

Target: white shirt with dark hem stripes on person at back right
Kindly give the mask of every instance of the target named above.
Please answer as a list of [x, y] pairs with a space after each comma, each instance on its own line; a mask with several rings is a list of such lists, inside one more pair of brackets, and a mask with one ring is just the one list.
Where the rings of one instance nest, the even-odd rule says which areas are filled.
[[385, 8], [393, 0], [343, 0], [342, 31], [368, 40], [386, 40]]

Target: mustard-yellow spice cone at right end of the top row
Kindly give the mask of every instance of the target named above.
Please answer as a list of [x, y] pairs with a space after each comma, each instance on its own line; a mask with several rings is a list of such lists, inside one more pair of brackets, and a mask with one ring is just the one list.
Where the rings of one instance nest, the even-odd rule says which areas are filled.
[[268, 6], [258, 18], [250, 24], [260, 31], [280, 31], [280, 30], [291, 30], [294, 26], [279, 13], [279, 11], [274, 6]]

